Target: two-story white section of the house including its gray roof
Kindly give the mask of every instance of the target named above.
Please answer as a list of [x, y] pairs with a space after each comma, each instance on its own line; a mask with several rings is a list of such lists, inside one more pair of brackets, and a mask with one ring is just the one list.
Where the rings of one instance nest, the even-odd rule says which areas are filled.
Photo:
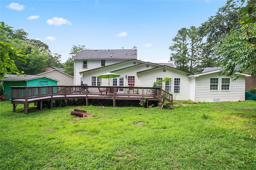
[[[86, 49], [80, 51], [72, 59], [74, 59], [74, 85], [81, 85], [83, 79], [80, 74], [81, 72], [122, 63], [131, 59], [137, 59], [137, 50], [124, 48], [100, 50]], [[103, 70], [103, 72], [105, 73], [107, 71]]]

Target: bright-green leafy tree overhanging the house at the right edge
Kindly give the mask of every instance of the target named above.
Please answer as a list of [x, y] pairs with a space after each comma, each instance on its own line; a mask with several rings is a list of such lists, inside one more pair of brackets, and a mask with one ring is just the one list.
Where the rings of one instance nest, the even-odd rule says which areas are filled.
[[[220, 64], [223, 65], [222, 73], [237, 79], [236, 72], [248, 72], [252, 75], [256, 74], [256, 0], [248, 0], [246, 7], [242, 7], [244, 0], [230, 0], [236, 10], [246, 14], [238, 20], [242, 25], [239, 29], [233, 29], [230, 34], [222, 40], [222, 44], [216, 48], [216, 54], [223, 58]], [[237, 2], [239, 7], [235, 7]], [[234, 67], [239, 65], [239, 69]]]

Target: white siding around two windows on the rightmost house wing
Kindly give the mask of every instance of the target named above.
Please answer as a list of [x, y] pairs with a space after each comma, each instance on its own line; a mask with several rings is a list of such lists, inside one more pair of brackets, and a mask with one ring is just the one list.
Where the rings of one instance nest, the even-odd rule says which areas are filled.
[[[210, 78], [218, 78], [218, 91], [210, 91]], [[221, 79], [230, 78], [219, 73], [196, 77], [196, 101], [213, 102], [220, 101], [244, 101], [245, 100], [245, 77], [240, 75], [236, 81], [230, 81], [230, 91], [221, 90]]]

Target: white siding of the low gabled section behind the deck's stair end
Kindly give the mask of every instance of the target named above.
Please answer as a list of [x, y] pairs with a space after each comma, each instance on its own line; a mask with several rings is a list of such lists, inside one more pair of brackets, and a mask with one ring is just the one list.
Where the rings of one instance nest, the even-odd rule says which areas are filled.
[[[172, 78], [172, 95], [174, 100], [188, 100], [190, 93], [190, 78], [185, 73], [180, 73], [175, 70], [166, 69], [163, 72], [162, 69], [155, 69], [152, 71], [147, 71], [139, 75], [140, 87], [152, 87], [153, 83], [156, 81], [156, 77], [171, 77]], [[180, 78], [180, 93], [174, 92], [174, 78]]]

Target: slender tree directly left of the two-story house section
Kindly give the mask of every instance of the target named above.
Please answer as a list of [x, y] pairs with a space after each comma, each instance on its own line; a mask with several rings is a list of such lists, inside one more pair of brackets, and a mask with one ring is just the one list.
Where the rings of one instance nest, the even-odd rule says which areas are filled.
[[72, 59], [76, 54], [78, 54], [82, 50], [86, 50], [85, 45], [73, 45], [70, 50], [70, 57], [68, 57], [67, 61], [63, 64], [64, 72], [74, 76], [74, 60]]

